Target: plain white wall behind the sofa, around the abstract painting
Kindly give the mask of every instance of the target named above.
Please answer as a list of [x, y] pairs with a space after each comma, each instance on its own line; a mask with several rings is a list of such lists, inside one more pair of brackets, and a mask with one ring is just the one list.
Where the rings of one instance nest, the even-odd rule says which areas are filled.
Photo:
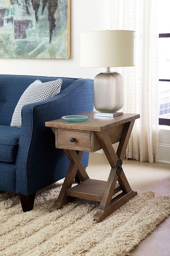
[[105, 29], [103, 2], [103, 0], [71, 0], [70, 59], [0, 59], [0, 73], [93, 79], [102, 70], [79, 67], [79, 37], [81, 32]]

